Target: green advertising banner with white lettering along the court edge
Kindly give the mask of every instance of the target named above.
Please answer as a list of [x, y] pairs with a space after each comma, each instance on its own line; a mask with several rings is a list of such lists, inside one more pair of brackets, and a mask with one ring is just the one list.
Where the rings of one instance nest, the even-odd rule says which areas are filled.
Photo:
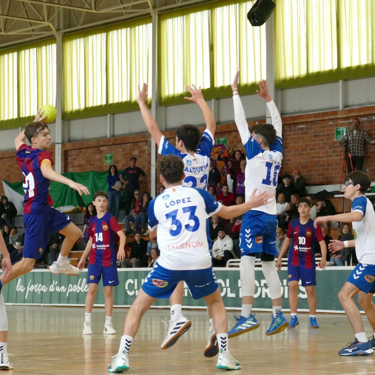
[[[318, 312], [343, 312], [338, 301], [338, 293], [353, 267], [331, 267], [323, 271], [317, 271], [317, 300]], [[130, 306], [143, 279], [147, 276], [147, 269], [119, 269], [118, 278], [120, 284], [114, 288], [114, 305]], [[241, 308], [241, 288], [239, 281], [239, 269], [215, 269], [217, 282], [219, 283], [224, 305], [227, 309]], [[288, 299], [288, 274], [287, 270], [279, 272], [282, 286], [282, 303], [287, 310]], [[267, 311], [271, 309], [270, 294], [261, 269], [255, 270], [255, 310]], [[48, 270], [35, 270], [20, 276], [14, 281], [3, 286], [2, 293], [7, 304], [35, 304], [35, 305], [81, 305], [85, 304], [88, 290], [87, 270], [78, 276], [65, 274], [54, 275]], [[99, 283], [99, 291], [96, 295], [96, 305], [104, 305], [103, 287]], [[154, 306], [169, 306], [168, 299], [156, 300]], [[193, 300], [189, 288], [185, 285], [184, 307], [205, 308], [204, 300]], [[299, 310], [308, 311], [307, 295], [305, 288], [300, 286]]]

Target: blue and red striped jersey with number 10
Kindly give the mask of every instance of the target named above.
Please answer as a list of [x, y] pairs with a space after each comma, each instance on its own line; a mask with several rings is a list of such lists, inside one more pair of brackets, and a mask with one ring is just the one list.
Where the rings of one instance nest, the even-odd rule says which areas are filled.
[[315, 246], [324, 241], [320, 226], [314, 228], [314, 220], [301, 224], [300, 218], [288, 225], [287, 237], [292, 240], [289, 249], [288, 264], [305, 268], [315, 268]]

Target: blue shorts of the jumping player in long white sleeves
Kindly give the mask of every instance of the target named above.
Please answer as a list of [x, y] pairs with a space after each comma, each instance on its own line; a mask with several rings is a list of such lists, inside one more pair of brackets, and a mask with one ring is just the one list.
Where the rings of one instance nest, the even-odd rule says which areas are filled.
[[241, 257], [265, 252], [279, 255], [276, 250], [276, 215], [261, 211], [248, 211], [243, 214], [240, 231]]

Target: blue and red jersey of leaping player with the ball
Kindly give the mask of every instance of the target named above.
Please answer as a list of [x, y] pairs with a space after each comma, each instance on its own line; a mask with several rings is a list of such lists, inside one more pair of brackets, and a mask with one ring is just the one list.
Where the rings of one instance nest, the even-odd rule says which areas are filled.
[[24, 143], [17, 150], [16, 160], [24, 175], [24, 213], [43, 213], [45, 208], [53, 204], [53, 200], [49, 196], [49, 184], [51, 181], [43, 177], [40, 164], [43, 160], [47, 160], [47, 162], [49, 160], [51, 166], [53, 165], [51, 152], [40, 150], [39, 148], [31, 148]]

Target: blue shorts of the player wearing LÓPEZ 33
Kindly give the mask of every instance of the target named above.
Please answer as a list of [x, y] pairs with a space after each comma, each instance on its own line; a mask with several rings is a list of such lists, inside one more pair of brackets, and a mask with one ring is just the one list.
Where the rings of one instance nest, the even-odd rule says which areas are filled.
[[174, 271], [156, 264], [144, 279], [142, 289], [150, 297], [169, 298], [180, 281], [186, 282], [195, 300], [209, 296], [219, 286], [212, 267], [204, 270]]

